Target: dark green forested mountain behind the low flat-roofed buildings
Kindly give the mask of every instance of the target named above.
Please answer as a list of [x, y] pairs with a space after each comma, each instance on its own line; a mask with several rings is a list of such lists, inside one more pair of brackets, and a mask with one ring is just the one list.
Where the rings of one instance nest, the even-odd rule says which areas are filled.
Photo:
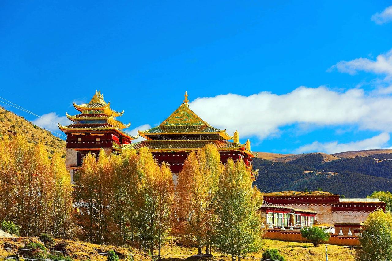
[[[377, 153], [376, 151], [374, 153]], [[290, 157], [293, 157], [290, 155]], [[375, 190], [392, 190], [392, 153], [325, 161], [319, 153], [302, 154], [287, 162], [256, 158], [256, 185], [261, 190], [316, 190], [358, 198]]]

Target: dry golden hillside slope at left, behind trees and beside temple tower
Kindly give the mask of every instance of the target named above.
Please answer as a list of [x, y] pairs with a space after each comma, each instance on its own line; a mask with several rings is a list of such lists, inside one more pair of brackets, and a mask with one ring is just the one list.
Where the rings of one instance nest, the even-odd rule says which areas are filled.
[[53, 136], [51, 132], [41, 129], [31, 121], [27, 121], [25, 118], [0, 107], [0, 137], [5, 135], [15, 136], [17, 133], [24, 135], [29, 142], [42, 142], [49, 152], [49, 157], [54, 152], [59, 152], [63, 158], [65, 157], [64, 140]]

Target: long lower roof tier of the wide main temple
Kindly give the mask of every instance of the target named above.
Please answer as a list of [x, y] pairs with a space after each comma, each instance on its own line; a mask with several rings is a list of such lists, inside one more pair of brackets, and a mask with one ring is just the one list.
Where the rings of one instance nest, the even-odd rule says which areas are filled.
[[147, 147], [150, 151], [191, 151], [199, 150], [207, 143], [214, 143], [218, 150], [242, 150], [251, 157], [255, 155], [245, 149], [245, 144], [232, 143], [224, 140], [145, 140], [124, 145], [124, 148], [141, 149]]

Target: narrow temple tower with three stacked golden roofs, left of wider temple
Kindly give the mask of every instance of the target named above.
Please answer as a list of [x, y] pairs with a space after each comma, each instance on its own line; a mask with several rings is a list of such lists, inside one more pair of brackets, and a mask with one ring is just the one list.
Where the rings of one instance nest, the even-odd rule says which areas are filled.
[[67, 126], [58, 125], [66, 135], [67, 143], [65, 166], [71, 175], [78, 170], [83, 163], [83, 157], [91, 151], [98, 153], [100, 149], [106, 153], [121, 150], [122, 145], [130, 144], [136, 139], [125, 132], [123, 129], [129, 127], [131, 123], [124, 124], [116, 117], [122, 116], [124, 111], [116, 112], [110, 107], [110, 102], [103, 100], [101, 91], [95, 92], [91, 101], [87, 104], [73, 104], [80, 114], [67, 118], [73, 121]]

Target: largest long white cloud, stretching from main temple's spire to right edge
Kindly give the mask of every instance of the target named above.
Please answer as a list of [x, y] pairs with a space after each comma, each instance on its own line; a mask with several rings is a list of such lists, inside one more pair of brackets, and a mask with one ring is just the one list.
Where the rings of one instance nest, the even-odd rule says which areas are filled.
[[190, 108], [215, 127], [260, 139], [276, 136], [287, 125], [359, 127], [392, 131], [392, 96], [363, 89], [338, 92], [327, 87], [298, 87], [287, 94], [260, 92], [250, 96], [222, 94], [197, 98]]

